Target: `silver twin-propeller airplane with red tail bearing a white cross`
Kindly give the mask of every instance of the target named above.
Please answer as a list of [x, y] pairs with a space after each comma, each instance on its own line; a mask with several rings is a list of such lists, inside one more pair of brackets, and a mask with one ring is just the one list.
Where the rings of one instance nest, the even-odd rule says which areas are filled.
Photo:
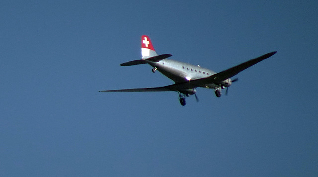
[[133, 66], [139, 64], [149, 64], [153, 67], [152, 72], [157, 70], [166, 77], [170, 78], [175, 84], [164, 87], [152, 87], [152, 88], [133, 88], [133, 89], [120, 89], [120, 90], [104, 90], [99, 92], [165, 92], [174, 91], [179, 94], [179, 101], [182, 106], [186, 105], [185, 98], [190, 95], [195, 95], [197, 101], [199, 101], [196, 95], [196, 88], [203, 87], [208, 89], [214, 89], [214, 93], [217, 97], [221, 97], [221, 89], [226, 88], [226, 95], [228, 93], [228, 87], [238, 79], [231, 80], [230, 78], [237, 75], [239, 72], [257, 64], [264, 59], [276, 54], [277, 51], [273, 51], [264, 54], [255, 59], [251, 59], [237, 66], [231, 67], [222, 72], [214, 72], [212, 70], [202, 68], [199, 65], [192, 65], [172, 59], [171, 54], [158, 55], [154, 49], [154, 46], [150, 38], [146, 35], [141, 36], [141, 55], [142, 59], [129, 61], [120, 64], [121, 66]]

